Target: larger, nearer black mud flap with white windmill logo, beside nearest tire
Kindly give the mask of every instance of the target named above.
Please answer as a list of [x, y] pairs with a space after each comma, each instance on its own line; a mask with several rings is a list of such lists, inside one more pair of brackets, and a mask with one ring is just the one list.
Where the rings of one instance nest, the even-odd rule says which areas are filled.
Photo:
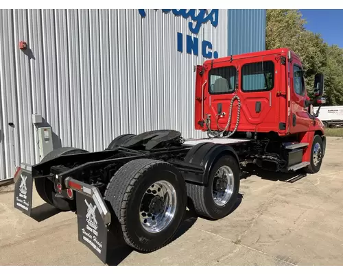
[[97, 199], [94, 195], [89, 197], [76, 192], [78, 237], [80, 242], [106, 264], [108, 227], [99, 212], [99, 201], [93, 198]]

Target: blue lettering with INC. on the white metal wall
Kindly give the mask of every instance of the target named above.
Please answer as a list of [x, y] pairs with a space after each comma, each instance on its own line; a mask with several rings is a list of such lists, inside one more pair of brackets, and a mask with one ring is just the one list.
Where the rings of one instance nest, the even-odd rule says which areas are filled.
[[[162, 9], [162, 12], [169, 13], [172, 12], [175, 16], [182, 16], [185, 19], [191, 18], [192, 22], [188, 23], [189, 30], [191, 33], [198, 35], [202, 24], [210, 22], [213, 27], [218, 25], [218, 9], [212, 9], [211, 12], [208, 12], [206, 9], [200, 10], [185, 10], [185, 9]], [[139, 9], [139, 14], [143, 18], [146, 16], [144, 9]], [[177, 49], [180, 52], [183, 52], [183, 34], [180, 32], [177, 33]], [[219, 54], [217, 51], [212, 52], [213, 45], [211, 42], [203, 40], [201, 42], [201, 53], [204, 58], [218, 58]], [[193, 36], [186, 36], [186, 51], [189, 54], [198, 55], [199, 54], [199, 39]]]

